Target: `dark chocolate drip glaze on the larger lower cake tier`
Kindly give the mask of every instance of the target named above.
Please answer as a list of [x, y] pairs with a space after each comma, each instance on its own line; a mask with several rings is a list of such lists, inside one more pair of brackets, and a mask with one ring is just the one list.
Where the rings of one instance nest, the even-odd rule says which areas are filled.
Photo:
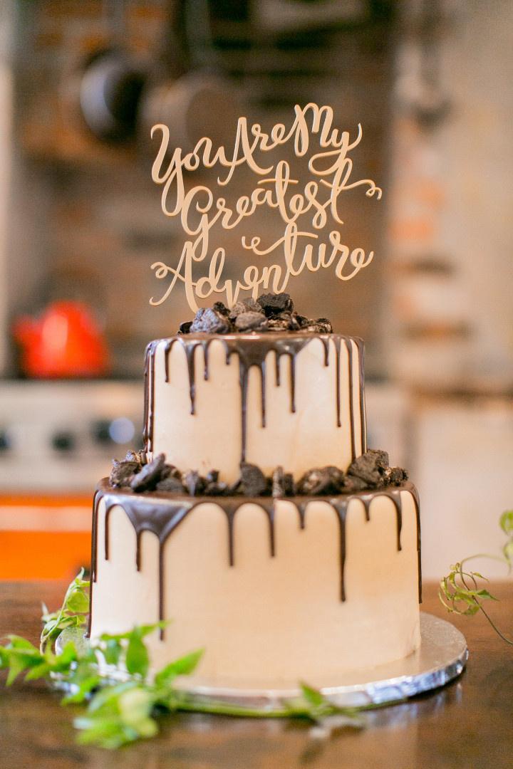
[[[401, 491], [409, 491], [415, 501], [415, 514], [417, 519], [417, 551], [418, 551], [418, 591], [419, 602], [421, 601], [421, 565], [420, 565], [420, 518], [418, 493], [415, 486], [411, 483], [405, 483], [400, 487], [378, 489], [376, 491], [364, 491], [357, 494], [341, 495], [336, 498], [287, 498], [295, 505], [298, 511], [299, 526], [301, 530], [306, 528], [306, 512], [308, 505], [314, 501], [321, 501], [331, 505], [335, 511], [339, 524], [339, 564], [340, 564], [340, 598], [346, 600], [345, 594], [345, 559], [346, 559], [346, 536], [345, 522], [348, 511], [348, 504], [353, 499], [358, 499], [363, 504], [365, 511], [365, 520], [370, 521], [370, 508], [373, 499], [385, 496], [388, 497], [395, 506], [396, 531], [397, 531], [397, 549], [401, 551], [401, 528], [402, 528], [402, 500]], [[135, 529], [135, 567], [140, 571], [141, 564], [141, 535], [143, 531], [152, 531], [158, 538], [158, 618], [164, 619], [164, 546], [168, 537], [178, 527], [186, 516], [198, 507], [200, 504], [216, 504], [225, 513], [227, 521], [228, 535], [228, 563], [232, 567], [235, 565], [235, 538], [234, 521], [237, 511], [245, 504], [258, 504], [268, 518], [269, 531], [269, 554], [275, 556], [275, 507], [272, 499], [266, 498], [223, 498], [222, 500], [213, 500], [212, 498], [176, 498], [165, 494], [153, 495], [145, 494], [141, 496], [128, 491], [117, 491], [113, 489], [105, 479], [98, 486], [95, 494], [93, 511], [93, 554], [92, 554], [92, 572], [91, 588], [96, 581], [97, 573], [97, 552], [98, 552], [98, 505], [101, 500], [105, 500], [105, 541], [104, 551], [105, 560], [109, 558], [109, 518], [110, 512], [115, 505], [120, 505], [128, 516], [129, 521]], [[161, 631], [161, 638], [164, 638], [164, 631]]]

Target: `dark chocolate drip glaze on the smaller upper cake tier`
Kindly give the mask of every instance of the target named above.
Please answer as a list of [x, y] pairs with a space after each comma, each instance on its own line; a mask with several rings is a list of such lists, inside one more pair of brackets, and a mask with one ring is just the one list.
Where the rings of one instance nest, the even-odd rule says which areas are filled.
[[[296, 410], [295, 402], [295, 361], [298, 353], [308, 345], [312, 339], [318, 339], [325, 351], [325, 366], [329, 365], [330, 340], [335, 345], [335, 387], [336, 387], [336, 424], [341, 427], [341, 394], [340, 394], [340, 365], [341, 365], [341, 341], [345, 343], [348, 354], [348, 378], [349, 378], [349, 410], [350, 410], [350, 430], [351, 430], [351, 457], [356, 457], [355, 445], [355, 406], [353, 394], [353, 347], [351, 338], [340, 335], [306, 335], [291, 333], [284, 335], [252, 335], [251, 338], [244, 335], [220, 335], [207, 336], [202, 338], [197, 336], [184, 335], [168, 339], [164, 348], [165, 381], [169, 381], [169, 355], [177, 342], [179, 342], [185, 351], [188, 368], [189, 394], [191, 398], [191, 414], [195, 414], [195, 394], [196, 394], [196, 373], [195, 373], [195, 351], [196, 348], [203, 349], [205, 368], [203, 377], [208, 380], [208, 348], [212, 341], [217, 339], [225, 346], [226, 363], [229, 365], [232, 355], [238, 356], [239, 384], [241, 388], [241, 461], [246, 460], [247, 444], [247, 406], [248, 406], [248, 381], [251, 368], [258, 368], [260, 371], [260, 389], [261, 389], [261, 426], [265, 428], [266, 421], [266, 398], [265, 388], [267, 381], [267, 355], [269, 352], [275, 353], [275, 382], [280, 386], [280, 361], [282, 357], [287, 357], [290, 365], [290, 409], [294, 413]], [[158, 341], [152, 342], [146, 349], [145, 360], [145, 450], [152, 451], [153, 442], [153, 412], [155, 408], [155, 351]], [[361, 450], [365, 451], [365, 405], [363, 398], [363, 345], [360, 340], [355, 340], [358, 345], [358, 357], [360, 365], [360, 418], [361, 423]]]

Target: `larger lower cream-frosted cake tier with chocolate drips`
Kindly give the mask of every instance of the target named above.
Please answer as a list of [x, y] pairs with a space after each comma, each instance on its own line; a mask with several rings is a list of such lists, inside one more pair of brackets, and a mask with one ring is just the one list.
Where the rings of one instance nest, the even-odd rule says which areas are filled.
[[95, 495], [92, 638], [169, 619], [152, 667], [205, 648], [195, 681], [249, 686], [385, 664], [420, 643], [411, 483], [336, 498]]

